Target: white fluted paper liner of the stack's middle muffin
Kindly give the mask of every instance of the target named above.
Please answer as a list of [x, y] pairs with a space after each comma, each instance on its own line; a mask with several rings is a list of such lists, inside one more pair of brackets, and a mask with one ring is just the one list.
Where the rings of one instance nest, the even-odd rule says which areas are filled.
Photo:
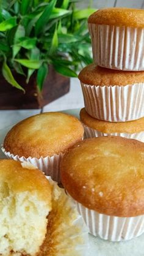
[[144, 83], [96, 86], [81, 82], [81, 86], [85, 110], [93, 118], [124, 122], [144, 116]]

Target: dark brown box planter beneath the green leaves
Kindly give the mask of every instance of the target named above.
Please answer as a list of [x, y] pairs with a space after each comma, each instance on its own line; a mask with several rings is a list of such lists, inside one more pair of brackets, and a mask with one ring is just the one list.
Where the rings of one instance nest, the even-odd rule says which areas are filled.
[[49, 67], [49, 74], [41, 93], [37, 89], [35, 74], [28, 84], [26, 84], [24, 76], [15, 72], [13, 72], [13, 76], [23, 86], [26, 93], [12, 87], [0, 75], [1, 110], [41, 108], [63, 96], [70, 89], [70, 78], [59, 75], [52, 67]]

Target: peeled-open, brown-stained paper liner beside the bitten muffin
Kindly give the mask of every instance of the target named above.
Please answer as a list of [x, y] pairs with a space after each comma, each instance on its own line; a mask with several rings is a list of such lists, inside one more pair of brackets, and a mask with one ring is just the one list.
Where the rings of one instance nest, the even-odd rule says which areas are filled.
[[52, 185], [52, 211], [48, 216], [46, 238], [39, 256], [86, 256], [88, 252], [88, 229], [79, 215], [76, 205], [60, 189]]

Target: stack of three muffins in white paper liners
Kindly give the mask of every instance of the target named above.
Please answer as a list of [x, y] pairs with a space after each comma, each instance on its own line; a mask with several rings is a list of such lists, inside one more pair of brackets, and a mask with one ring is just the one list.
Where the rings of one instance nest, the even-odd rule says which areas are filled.
[[144, 10], [98, 10], [88, 28], [95, 64], [79, 73], [86, 137], [144, 141]]

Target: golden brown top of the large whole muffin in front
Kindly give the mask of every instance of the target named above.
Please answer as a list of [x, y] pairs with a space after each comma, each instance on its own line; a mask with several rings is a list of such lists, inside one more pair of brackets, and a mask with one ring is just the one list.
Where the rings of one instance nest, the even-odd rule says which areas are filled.
[[144, 214], [144, 143], [89, 138], [62, 159], [62, 184], [85, 207], [110, 216]]

